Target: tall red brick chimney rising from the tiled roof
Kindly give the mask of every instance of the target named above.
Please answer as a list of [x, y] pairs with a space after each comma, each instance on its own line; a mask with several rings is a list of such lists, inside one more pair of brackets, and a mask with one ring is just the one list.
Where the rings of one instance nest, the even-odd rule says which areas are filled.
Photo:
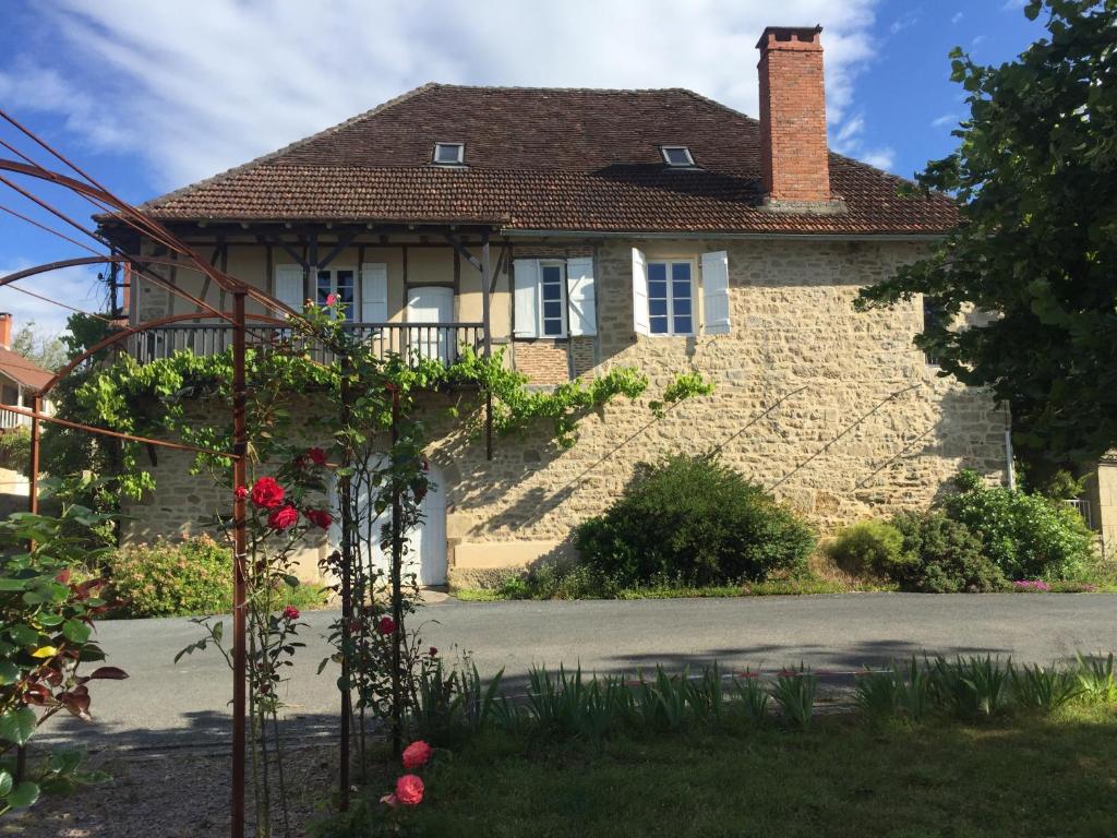
[[761, 170], [767, 209], [840, 212], [830, 194], [822, 27], [770, 26], [761, 60]]

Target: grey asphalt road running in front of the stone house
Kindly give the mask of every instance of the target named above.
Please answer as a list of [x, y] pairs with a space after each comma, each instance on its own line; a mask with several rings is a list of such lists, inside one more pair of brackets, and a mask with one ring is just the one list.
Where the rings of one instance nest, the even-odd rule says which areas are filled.
[[[338, 707], [324, 635], [333, 611], [305, 615], [307, 642], [283, 691], [300, 733], [332, 730]], [[504, 668], [509, 686], [533, 665], [581, 664], [596, 673], [634, 673], [663, 664], [775, 669], [805, 663], [850, 672], [913, 654], [1012, 656], [1050, 663], [1076, 651], [1117, 649], [1117, 596], [861, 593], [629, 602], [493, 602], [450, 599], [420, 610], [426, 644], [454, 657], [472, 653], [483, 675]], [[226, 619], [226, 627], [229, 621]], [[93, 724], [56, 718], [44, 739], [90, 747], [166, 746], [228, 736], [231, 676], [216, 651], [173, 663], [201, 636], [187, 619], [103, 622], [97, 636], [122, 682], [96, 682]]]

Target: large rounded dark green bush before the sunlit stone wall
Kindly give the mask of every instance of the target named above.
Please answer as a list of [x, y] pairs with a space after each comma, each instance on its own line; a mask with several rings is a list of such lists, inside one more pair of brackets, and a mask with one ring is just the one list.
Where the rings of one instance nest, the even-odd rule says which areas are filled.
[[812, 530], [714, 456], [642, 465], [604, 515], [574, 532], [582, 564], [618, 585], [716, 584], [803, 570]]

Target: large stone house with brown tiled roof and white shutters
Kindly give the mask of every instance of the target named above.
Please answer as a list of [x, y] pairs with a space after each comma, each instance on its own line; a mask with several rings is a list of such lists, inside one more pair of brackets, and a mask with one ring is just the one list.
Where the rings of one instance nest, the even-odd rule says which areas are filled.
[[[1008, 417], [913, 345], [923, 301], [852, 308], [956, 215], [828, 150], [820, 31], [764, 31], [758, 121], [685, 89], [430, 84], [145, 208], [289, 305], [340, 294], [385, 352], [491, 346], [541, 387], [615, 365], [647, 373], [650, 397], [689, 370], [715, 383], [658, 421], [647, 399], [612, 402], [571, 450], [528, 436], [489, 460], [447, 425], [416, 554], [426, 583], [563, 553], [637, 463], [674, 451], [719, 447], [823, 528], [925, 506], [961, 466], [1003, 478]], [[132, 291], [133, 322], [191, 311], [141, 278]], [[200, 315], [132, 351], [228, 342]], [[225, 504], [183, 475], [161, 456], [127, 539]]]

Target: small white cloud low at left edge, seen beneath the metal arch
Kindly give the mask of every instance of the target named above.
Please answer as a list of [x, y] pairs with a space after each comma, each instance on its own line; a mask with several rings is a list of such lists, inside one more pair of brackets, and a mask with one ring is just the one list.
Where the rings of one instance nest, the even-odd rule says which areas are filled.
[[[22, 270], [32, 264], [35, 263], [30, 259], [13, 259], [0, 265], [0, 276]], [[35, 321], [38, 336], [55, 337], [66, 331], [66, 321], [73, 312], [49, 301], [60, 301], [85, 312], [101, 312], [105, 308], [102, 298], [105, 286], [98, 284], [96, 277], [96, 268], [63, 268], [20, 279], [0, 287], [0, 312], [11, 314], [13, 334]], [[48, 299], [29, 296], [17, 288], [25, 288]]]

